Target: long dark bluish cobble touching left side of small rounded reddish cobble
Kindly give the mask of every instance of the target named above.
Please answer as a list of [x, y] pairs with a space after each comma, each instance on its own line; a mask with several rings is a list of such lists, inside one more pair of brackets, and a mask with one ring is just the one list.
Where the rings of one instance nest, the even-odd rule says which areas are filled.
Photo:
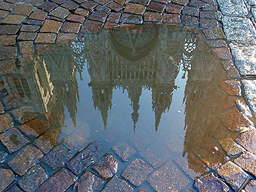
[[102, 153], [104, 153], [102, 143], [92, 142], [85, 149], [79, 152], [66, 164], [67, 167], [76, 175], [80, 174], [88, 166], [99, 160]]

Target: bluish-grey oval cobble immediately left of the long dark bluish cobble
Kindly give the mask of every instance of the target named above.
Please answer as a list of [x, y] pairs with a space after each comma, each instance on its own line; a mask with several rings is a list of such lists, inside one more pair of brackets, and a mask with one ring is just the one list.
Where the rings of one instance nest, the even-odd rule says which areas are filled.
[[47, 155], [43, 156], [41, 162], [47, 164], [52, 169], [64, 166], [64, 164], [71, 159], [73, 154], [71, 150], [67, 149], [64, 145], [55, 146]]

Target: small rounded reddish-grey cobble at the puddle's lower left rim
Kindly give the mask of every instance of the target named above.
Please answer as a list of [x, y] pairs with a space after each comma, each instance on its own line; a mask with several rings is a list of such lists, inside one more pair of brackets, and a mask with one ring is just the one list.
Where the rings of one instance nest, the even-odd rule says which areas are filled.
[[118, 162], [112, 154], [106, 153], [98, 162], [92, 165], [92, 169], [99, 173], [100, 177], [108, 180], [116, 174]]

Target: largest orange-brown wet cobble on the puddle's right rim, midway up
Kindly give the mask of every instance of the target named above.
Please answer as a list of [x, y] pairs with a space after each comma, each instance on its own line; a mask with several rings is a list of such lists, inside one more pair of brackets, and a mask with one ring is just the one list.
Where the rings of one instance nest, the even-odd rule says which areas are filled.
[[220, 115], [220, 119], [231, 132], [239, 131], [243, 127], [251, 125], [249, 118], [240, 113], [237, 108], [223, 113]]

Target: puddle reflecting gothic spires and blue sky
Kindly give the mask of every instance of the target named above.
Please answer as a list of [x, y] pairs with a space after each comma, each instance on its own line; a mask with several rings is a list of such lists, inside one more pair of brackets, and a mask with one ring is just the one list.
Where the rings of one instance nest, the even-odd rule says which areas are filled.
[[[229, 78], [222, 61], [194, 30], [157, 25], [86, 34], [28, 60], [5, 78], [24, 94], [22, 104], [50, 121], [54, 133], [43, 139], [73, 153], [100, 141], [118, 160], [120, 177], [138, 157], [154, 171], [171, 161], [184, 176], [176, 179], [189, 183], [180, 191], [228, 159], [220, 140], [237, 133], [220, 114], [238, 97], [220, 88]], [[119, 142], [135, 150], [123, 153], [126, 162], [111, 149]], [[154, 191], [147, 181], [134, 188]]]

